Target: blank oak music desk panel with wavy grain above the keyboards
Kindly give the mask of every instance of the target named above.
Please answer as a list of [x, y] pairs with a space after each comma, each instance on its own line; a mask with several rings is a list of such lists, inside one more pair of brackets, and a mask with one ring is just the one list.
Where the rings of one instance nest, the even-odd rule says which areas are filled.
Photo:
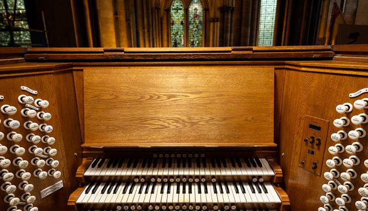
[[273, 69], [84, 70], [85, 143], [273, 142]]

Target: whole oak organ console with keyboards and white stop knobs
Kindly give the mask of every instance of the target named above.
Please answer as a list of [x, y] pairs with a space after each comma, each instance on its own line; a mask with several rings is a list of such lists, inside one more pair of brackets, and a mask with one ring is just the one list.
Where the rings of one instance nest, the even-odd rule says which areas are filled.
[[[368, 93], [349, 97], [368, 87], [365, 45], [3, 48], [0, 57], [0, 106], [17, 109], [0, 113], [4, 211], [368, 210]], [[23, 110], [32, 106], [40, 118]], [[49, 125], [55, 140], [42, 139]], [[29, 193], [21, 175], [5, 177], [20, 169]]]

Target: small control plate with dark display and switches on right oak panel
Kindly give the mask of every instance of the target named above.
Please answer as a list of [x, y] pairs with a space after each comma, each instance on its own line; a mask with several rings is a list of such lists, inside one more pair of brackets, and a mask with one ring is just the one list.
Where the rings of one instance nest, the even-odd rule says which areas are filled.
[[320, 175], [322, 170], [328, 126], [328, 120], [308, 115], [304, 118], [303, 133], [299, 142], [299, 167], [316, 175]]

